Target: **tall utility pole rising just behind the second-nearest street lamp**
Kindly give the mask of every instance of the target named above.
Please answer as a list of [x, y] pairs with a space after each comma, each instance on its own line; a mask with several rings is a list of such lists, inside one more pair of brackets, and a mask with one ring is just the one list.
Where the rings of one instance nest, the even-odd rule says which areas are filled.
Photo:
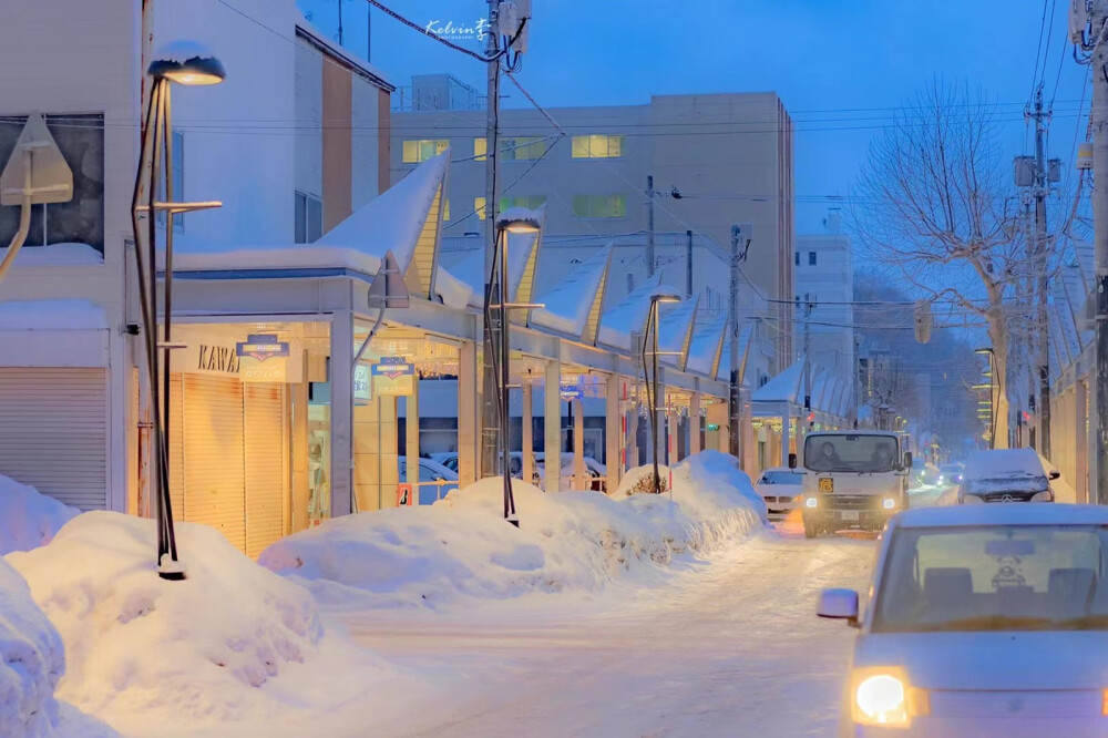
[[[489, 0], [489, 28], [485, 31], [485, 57], [490, 59], [488, 66], [488, 92], [485, 100], [485, 256], [484, 281], [485, 294], [492, 288], [492, 275], [495, 270], [496, 254], [496, 165], [500, 160], [500, 42], [497, 41], [496, 22], [500, 16], [501, 0]], [[493, 296], [494, 303], [500, 303], [499, 295]], [[492, 476], [496, 473], [497, 439], [500, 432], [500, 407], [496, 393], [496, 367], [493, 363], [493, 347], [500, 340], [499, 311], [491, 310], [485, 316], [484, 356], [481, 360], [481, 454], [479, 459], [478, 479]], [[507, 389], [505, 388], [506, 392]], [[551, 388], [547, 387], [550, 392]], [[556, 388], [555, 388], [555, 391]], [[507, 459], [504, 459], [507, 463]]]

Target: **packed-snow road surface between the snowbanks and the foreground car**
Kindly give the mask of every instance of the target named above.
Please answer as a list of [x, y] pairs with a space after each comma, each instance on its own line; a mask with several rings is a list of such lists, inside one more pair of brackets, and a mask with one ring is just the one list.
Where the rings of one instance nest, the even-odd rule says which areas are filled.
[[854, 632], [817, 619], [815, 595], [863, 588], [874, 543], [779, 525], [656, 584], [542, 609], [525, 598], [454, 615], [343, 613], [355, 639], [397, 666], [453, 675], [394, 724], [367, 714], [362, 725], [389, 736], [830, 735]]

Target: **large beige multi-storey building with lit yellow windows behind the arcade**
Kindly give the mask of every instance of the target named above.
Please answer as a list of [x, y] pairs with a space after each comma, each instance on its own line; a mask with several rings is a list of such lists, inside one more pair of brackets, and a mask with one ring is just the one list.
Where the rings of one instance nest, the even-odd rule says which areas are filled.
[[[425, 75], [397, 99], [392, 178], [455, 152], [445, 193], [450, 235], [484, 232], [485, 116], [476, 93]], [[655, 228], [693, 229], [729, 248], [730, 227], [753, 238], [743, 270], [769, 300], [776, 370], [792, 359], [792, 123], [773, 93], [658, 95], [642, 105], [552, 109], [561, 137], [536, 110], [501, 111], [501, 209], [546, 206], [547, 232], [593, 245], [647, 228], [653, 175]], [[643, 237], [639, 236], [640, 243]], [[663, 257], [657, 257], [660, 264]], [[676, 286], [684, 286], [685, 279]], [[715, 289], [715, 287], [712, 287]], [[725, 291], [726, 294], [726, 291]], [[780, 301], [777, 301], [780, 300]]]

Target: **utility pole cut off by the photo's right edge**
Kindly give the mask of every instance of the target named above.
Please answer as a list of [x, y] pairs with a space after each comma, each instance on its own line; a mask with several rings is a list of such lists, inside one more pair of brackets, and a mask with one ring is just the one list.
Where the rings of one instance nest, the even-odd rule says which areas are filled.
[[[1094, 0], [1091, 27], [1099, 31], [1108, 18], [1108, 0]], [[1105, 433], [1108, 431], [1108, 78], [1105, 62], [1108, 48], [1099, 43], [1092, 50], [1092, 222], [1096, 228], [1094, 246], [1097, 269], [1096, 319], [1096, 498], [1108, 504], [1108, 462], [1104, 458]]]

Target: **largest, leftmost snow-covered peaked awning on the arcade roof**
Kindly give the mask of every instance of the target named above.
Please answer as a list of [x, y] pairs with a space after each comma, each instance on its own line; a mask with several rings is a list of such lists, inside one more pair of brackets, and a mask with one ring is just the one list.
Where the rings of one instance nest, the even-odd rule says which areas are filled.
[[315, 247], [353, 248], [378, 258], [391, 250], [412, 295], [435, 294], [442, 233], [442, 191], [450, 148], [430, 158], [316, 240]]

